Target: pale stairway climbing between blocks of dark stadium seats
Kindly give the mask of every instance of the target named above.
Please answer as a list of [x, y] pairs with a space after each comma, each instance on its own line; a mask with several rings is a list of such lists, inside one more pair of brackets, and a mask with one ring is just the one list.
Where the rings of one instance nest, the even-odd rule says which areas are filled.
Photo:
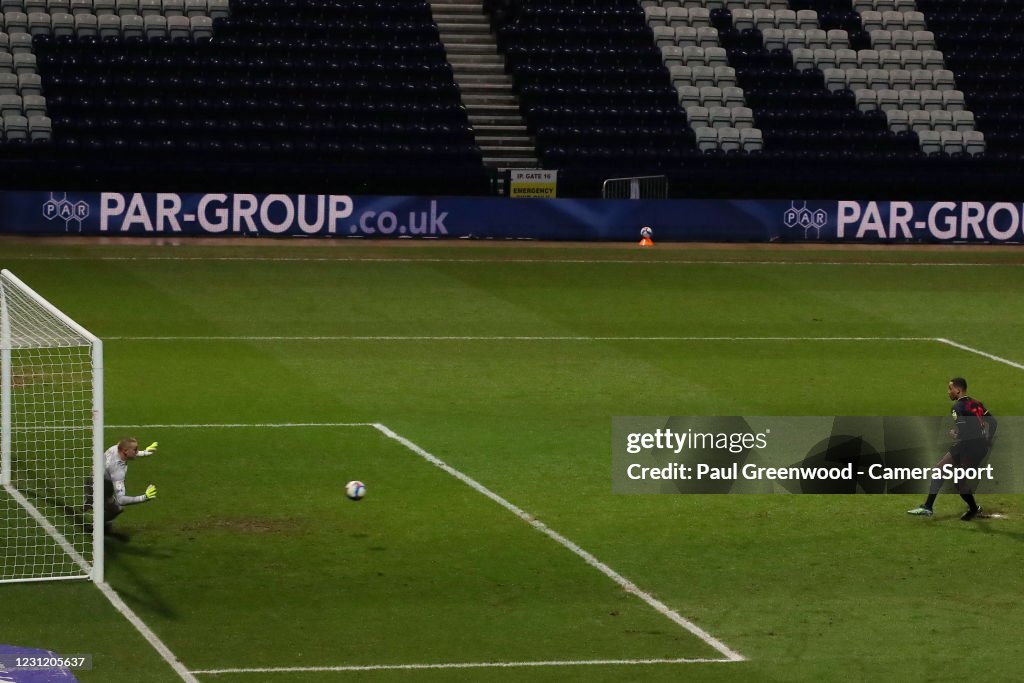
[[483, 164], [537, 168], [534, 137], [480, 0], [431, 0], [430, 9], [469, 115]]

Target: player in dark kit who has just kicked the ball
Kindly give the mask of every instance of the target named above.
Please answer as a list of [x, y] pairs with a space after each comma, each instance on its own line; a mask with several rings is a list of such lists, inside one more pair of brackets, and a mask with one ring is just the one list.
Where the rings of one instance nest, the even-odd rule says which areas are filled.
[[[992, 445], [995, 437], [997, 423], [984, 403], [967, 395], [967, 380], [963, 377], [954, 377], [949, 380], [949, 400], [953, 401], [953, 422], [955, 425], [949, 430], [949, 435], [953, 438], [953, 444], [949, 452], [942, 457], [936, 467], [953, 465], [955, 467], [978, 467], [981, 461], [988, 455], [988, 450]], [[939, 489], [945, 479], [936, 477], [932, 479], [931, 488], [928, 490], [928, 499], [924, 505], [913, 510], [907, 510], [910, 515], [924, 515], [931, 517], [934, 512], [932, 506], [935, 505], [935, 498], [939, 495]], [[956, 489], [961, 498], [968, 505], [968, 510], [961, 516], [964, 521], [971, 521], [981, 512], [974, 500], [974, 490], [970, 481], [956, 482]]]

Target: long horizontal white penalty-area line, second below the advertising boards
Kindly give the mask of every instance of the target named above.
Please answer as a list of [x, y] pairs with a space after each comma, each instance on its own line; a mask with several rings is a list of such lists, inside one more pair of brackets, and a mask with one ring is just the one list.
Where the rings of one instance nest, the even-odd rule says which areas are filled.
[[326, 335], [326, 336], [168, 336], [168, 337], [103, 337], [103, 341], [629, 341], [629, 342], [705, 342], [705, 341], [755, 341], [755, 342], [797, 342], [797, 341], [935, 341], [933, 337], [587, 337], [587, 336], [517, 336], [517, 335]]

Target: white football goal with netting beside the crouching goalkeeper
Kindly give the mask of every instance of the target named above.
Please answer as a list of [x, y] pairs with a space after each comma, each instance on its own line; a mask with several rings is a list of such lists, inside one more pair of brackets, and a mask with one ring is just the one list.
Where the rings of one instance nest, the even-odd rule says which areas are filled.
[[0, 270], [0, 583], [103, 580], [102, 439], [102, 342]]

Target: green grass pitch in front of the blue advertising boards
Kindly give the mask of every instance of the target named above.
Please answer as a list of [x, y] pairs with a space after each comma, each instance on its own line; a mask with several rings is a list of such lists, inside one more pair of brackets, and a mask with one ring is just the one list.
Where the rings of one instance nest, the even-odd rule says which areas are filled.
[[[616, 415], [943, 414], [953, 375], [1021, 415], [1022, 261], [0, 242], [105, 340], [106, 440], [161, 443], [130, 467], [129, 494], [160, 497], [117, 520], [108, 582], [204, 683], [1018, 678], [1018, 496], [969, 524], [952, 494], [932, 519], [904, 514], [916, 497], [614, 496], [610, 433]], [[665, 661], [724, 657], [371, 423], [744, 660]], [[92, 654], [81, 681], [180, 680], [91, 584], [0, 586], [0, 643]], [[399, 668], [485, 663], [552, 664]], [[303, 668], [337, 670], [225, 672]]]

